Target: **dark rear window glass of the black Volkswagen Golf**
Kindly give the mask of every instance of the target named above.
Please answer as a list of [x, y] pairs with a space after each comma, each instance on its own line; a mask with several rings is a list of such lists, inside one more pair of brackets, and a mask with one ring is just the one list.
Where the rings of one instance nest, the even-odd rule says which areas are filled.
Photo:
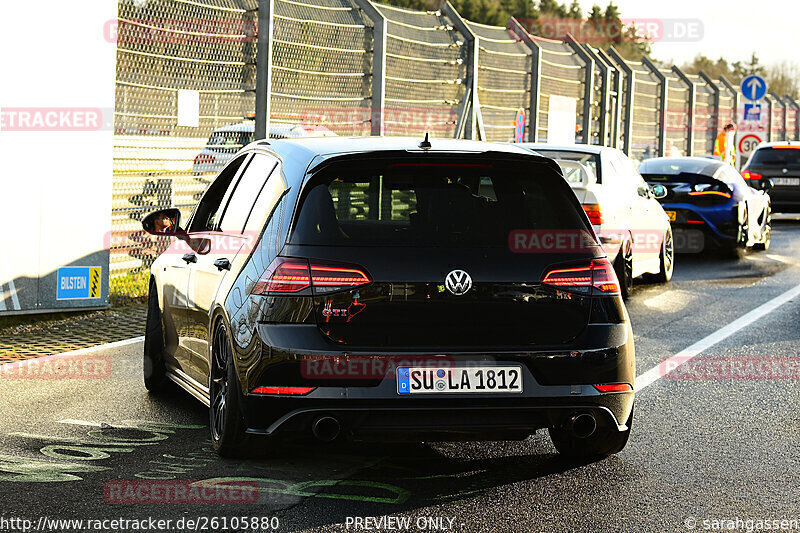
[[517, 229], [585, 230], [572, 191], [532, 164], [385, 163], [331, 167], [305, 189], [290, 242], [507, 247]]

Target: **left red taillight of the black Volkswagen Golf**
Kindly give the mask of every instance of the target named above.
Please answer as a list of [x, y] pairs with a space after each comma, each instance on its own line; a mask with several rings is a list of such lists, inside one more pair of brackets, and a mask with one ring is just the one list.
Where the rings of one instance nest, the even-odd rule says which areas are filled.
[[278, 257], [258, 280], [253, 294], [293, 294], [311, 287], [315, 292], [328, 293], [371, 282], [357, 267]]

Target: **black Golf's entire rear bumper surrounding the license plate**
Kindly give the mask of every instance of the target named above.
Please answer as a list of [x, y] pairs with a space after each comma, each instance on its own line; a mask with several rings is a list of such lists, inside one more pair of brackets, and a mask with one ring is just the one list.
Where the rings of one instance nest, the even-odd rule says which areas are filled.
[[[524, 438], [584, 412], [598, 425], [619, 427], [633, 406], [632, 391], [600, 393], [593, 386], [633, 385], [628, 323], [593, 324], [570, 346], [544, 352], [345, 352], [321, 342], [315, 346], [320, 336], [312, 331], [305, 325], [259, 326], [262, 342], [272, 343], [264, 343], [260, 361], [251, 359], [248, 367], [239, 361], [249, 433], [308, 436], [318, 418], [332, 416], [345, 436], [357, 440]], [[397, 368], [423, 365], [519, 366], [522, 392], [399, 394]], [[304, 396], [248, 392], [263, 386], [313, 390]]]

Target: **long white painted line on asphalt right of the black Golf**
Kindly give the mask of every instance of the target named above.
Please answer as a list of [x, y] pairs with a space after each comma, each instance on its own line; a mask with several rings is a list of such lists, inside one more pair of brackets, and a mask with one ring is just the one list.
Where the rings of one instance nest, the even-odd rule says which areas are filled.
[[696, 343], [692, 344], [688, 348], [681, 350], [680, 352], [676, 353], [672, 357], [668, 357], [661, 361], [658, 365], [654, 366], [650, 370], [646, 371], [644, 374], [639, 375], [636, 378], [636, 390], [640, 391], [645, 387], [652, 385], [662, 377], [664, 377], [664, 368], [669, 368], [670, 371], [678, 368], [686, 361], [689, 361], [693, 357], [703, 353], [705, 350], [711, 348], [715, 344], [727, 339], [734, 333], [746, 328], [759, 318], [768, 315], [778, 307], [782, 306], [792, 298], [795, 298], [800, 295], [800, 285], [797, 285], [788, 291], [784, 292], [780, 296], [776, 296], [772, 300], [768, 301], [767, 303], [756, 307], [749, 313], [742, 315], [741, 317], [737, 318], [727, 326], [724, 326], [711, 335], [700, 339]]

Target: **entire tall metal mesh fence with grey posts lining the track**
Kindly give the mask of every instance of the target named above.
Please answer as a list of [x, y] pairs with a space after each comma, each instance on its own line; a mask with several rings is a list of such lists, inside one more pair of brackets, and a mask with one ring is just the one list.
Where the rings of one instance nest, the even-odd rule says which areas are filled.
[[[258, 34], [260, 15], [268, 35]], [[141, 231], [141, 218], [168, 206], [187, 217], [254, 139], [259, 79], [271, 81], [273, 138], [377, 131], [547, 142], [551, 110], [563, 112], [567, 99], [576, 142], [635, 159], [711, 154], [741, 100], [726, 80], [534, 37], [513, 19], [508, 28], [465, 21], [449, 4], [118, 0], [116, 37], [112, 301], [146, 294], [150, 264], [167, 245]], [[265, 39], [268, 75], [257, 66]], [[770, 138], [800, 138], [800, 106], [770, 102]]]

